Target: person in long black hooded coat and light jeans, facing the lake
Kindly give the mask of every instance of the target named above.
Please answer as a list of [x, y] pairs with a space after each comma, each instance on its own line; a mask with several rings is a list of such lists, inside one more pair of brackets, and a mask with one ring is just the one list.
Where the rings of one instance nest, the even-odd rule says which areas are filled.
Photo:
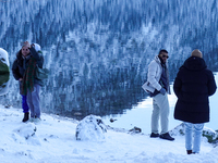
[[[214, 75], [207, 68], [199, 50], [194, 50], [180, 67], [173, 90], [178, 97], [174, 118], [184, 122], [187, 154], [198, 153], [204, 123], [209, 122], [209, 96], [217, 89]], [[194, 141], [192, 147], [192, 131]]]

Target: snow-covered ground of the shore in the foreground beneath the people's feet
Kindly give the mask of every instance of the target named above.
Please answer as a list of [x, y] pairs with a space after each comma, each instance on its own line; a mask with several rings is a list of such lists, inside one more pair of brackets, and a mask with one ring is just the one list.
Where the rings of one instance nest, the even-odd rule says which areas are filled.
[[105, 139], [76, 140], [78, 122], [41, 115], [41, 122], [22, 123], [21, 109], [0, 105], [1, 163], [217, 163], [218, 147], [202, 139], [199, 154], [187, 155], [184, 136], [174, 141], [149, 135], [107, 129]]

